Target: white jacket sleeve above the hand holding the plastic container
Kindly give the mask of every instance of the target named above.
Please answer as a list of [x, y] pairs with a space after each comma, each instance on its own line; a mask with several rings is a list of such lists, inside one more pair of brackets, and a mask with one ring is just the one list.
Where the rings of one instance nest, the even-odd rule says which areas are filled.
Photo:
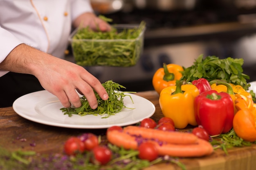
[[72, 0], [72, 21], [85, 12], [94, 12], [90, 0]]

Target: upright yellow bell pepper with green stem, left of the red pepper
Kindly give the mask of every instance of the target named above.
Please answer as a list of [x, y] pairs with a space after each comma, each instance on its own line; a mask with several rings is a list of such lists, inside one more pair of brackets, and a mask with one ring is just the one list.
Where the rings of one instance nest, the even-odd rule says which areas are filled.
[[188, 124], [197, 125], [194, 115], [194, 99], [199, 95], [195, 85], [179, 81], [177, 86], [162, 90], [159, 105], [165, 117], [171, 118], [175, 128], [184, 129]]

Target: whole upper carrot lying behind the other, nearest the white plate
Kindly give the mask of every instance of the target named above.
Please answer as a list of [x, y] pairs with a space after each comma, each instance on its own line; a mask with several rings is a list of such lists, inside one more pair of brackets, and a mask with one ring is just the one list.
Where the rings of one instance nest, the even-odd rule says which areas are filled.
[[198, 142], [198, 137], [192, 133], [162, 131], [141, 126], [127, 126], [124, 128], [124, 132], [129, 133], [130, 135], [141, 136], [147, 139], [155, 139], [172, 144], [195, 144]]

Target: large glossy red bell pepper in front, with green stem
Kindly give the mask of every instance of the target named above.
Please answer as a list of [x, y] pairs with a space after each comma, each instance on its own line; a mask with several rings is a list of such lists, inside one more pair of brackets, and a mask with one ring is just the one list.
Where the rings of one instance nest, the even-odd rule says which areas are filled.
[[234, 103], [226, 92], [202, 92], [194, 100], [195, 120], [209, 135], [227, 133], [233, 127]]

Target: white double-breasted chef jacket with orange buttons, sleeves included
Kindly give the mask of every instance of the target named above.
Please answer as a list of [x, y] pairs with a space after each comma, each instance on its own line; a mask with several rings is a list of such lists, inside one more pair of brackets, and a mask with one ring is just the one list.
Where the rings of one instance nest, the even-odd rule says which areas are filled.
[[22, 43], [63, 58], [72, 21], [84, 12], [93, 12], [90, 0], [0, 0], [0, 63]]

